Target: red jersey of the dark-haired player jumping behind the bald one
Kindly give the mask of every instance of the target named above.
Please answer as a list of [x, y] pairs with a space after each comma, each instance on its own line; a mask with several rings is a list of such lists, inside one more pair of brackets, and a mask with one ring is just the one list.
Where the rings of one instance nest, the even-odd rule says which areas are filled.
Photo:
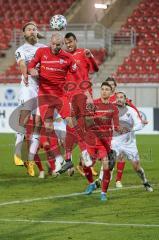
[[[89, 73], [98, 72], [99, 70], [93, 55], [91, 57], [86, 57], [85, 50], [86, 49], [78, 48], [74, 52], [71, 52], [71, 55], [77, 64], [78, 71], [78, 78], [71, 72], [68, 72], [67, 74], [67, 81], [76, 83], [74, 89], [72, 90], [73, 92], [84, 92], [86, 90], [85, 87], [87, 88], [87, 84], [83, 84], [83, 86], [79, 86], [79, 84], [83, 81], [90, 81]], [[90, 88], [90, 84], [88, 87]]]

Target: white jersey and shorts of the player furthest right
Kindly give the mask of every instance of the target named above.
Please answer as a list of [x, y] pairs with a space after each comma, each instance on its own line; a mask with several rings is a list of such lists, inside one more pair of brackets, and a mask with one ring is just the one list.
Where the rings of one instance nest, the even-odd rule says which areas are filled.
[[143, 124], [137, 112], [129, 106], [119, 108], [119, 124], [129, 129], [129, 132], [120, 135], [115, 133], [111, 142], [112, 149], [116, 151], [117, 156], [124, 154], [130, 160], [139, 160], [135, 131], [141, 130]]

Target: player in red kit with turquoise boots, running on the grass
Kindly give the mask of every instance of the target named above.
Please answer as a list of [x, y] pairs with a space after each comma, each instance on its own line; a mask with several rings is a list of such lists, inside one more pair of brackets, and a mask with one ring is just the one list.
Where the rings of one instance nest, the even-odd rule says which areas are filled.
[[[101, 159], [103, 166], [101, 200], [105, 201], [106, 192], [110, 182], [110, 171], [114, 162], [108, 158], [113, 130], [119, 131], [119, 116], [117, 107], [109, 102], [112, 88], [107, 82], [101, 85], [101, 98], [94, 101], [95, 113], [93, 116], [87, 116], [90, 126], [87, 129], [87, 149], [88, 153], [94, 159]], [[84, 167], [89, 185], [86, 194], [91, 194], [96, 189], [93, 177], [89, 167]]]

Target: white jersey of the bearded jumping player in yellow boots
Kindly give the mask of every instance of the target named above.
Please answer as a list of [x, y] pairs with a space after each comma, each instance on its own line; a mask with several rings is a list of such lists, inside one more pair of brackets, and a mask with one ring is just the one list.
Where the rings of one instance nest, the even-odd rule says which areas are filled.
[[[31, 45], [29, 43], [24, 43], [21, 47], [19, 47], [16, 51], [15, 51], [15, 58], [17, 63], [20, 60], [24, 60], [26, 65], [28, 65], [28, 63], [32, 60], [32, 58], [34, 57], [36, 51], [38, 48], [41, 47], [46, 47], [46, 45], [41, 44], [41, 43], [36, 43], [34, 45]], [[24, 85], [23, 82], [23, 76], [22, 76], [22, 85]], [[28, 85], [38, 85], [37, 82], [37, 78], [33, 78], [31, 76], [28, 76]], [[25, 85], [24, 85], [25, 86]]]

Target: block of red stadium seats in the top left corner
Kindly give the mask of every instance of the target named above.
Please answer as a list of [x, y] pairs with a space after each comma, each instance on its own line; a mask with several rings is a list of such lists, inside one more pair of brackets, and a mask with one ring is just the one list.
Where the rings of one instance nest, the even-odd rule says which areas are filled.
[[[37, 24], [48, 24], [50, 18], [56, 14], [64, 14], [75, 0], [1, 0], [0, 1], [0, 49], [10, 47], [14, 28], [21, 29], [28, 21]], [[4, 24], [5, 23], [5, 24]]]

